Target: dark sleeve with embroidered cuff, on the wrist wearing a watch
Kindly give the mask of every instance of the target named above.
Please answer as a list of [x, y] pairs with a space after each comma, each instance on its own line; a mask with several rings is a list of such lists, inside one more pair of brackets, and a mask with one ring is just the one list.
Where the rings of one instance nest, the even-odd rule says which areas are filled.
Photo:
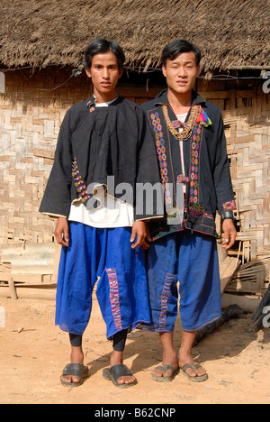
[[224, 124], [220, 113], [217, 130], [218, 141], [214, 169], [214, 184], [217, 196], [218, 211], [220, 214], [222, 214], [225, 211], [232, 211], [236, 209], [236, 202], [230, 178], [229, 159], [227, 155], [227, 144], [224, 133]]

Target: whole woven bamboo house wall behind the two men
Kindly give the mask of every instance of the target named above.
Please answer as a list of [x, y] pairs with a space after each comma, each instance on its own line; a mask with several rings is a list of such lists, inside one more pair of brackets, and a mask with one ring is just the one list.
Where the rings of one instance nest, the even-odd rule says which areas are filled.
[[[55, 220], [40, 215], [40, 199], [67, 108], [91, 95], [84, 76], [51, 90], [69, 75], [68, 69], [5, 74], [6, 94], [0, 94], [0, 245], [53, 242]], [[238, 203], [238, 241], [230, 253], [243, 264], [231, 289], [257, 292], [269, 280], [270, 96], [262, 84], [248, 84], [199, 79], [197, 90], [220, 106], [227, 135]], [[119, 93], [142, 103], [161, 88], [124, 84]]]

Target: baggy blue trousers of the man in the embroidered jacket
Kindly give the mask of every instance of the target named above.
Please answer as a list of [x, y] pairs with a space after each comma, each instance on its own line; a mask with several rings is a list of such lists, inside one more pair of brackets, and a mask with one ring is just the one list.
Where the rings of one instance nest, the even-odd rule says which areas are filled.
[[183, 230], [152, 242], [148, 288], [152, 322], [146, 329], [173, 332], [178, 308], [184, 331], [196, 331], [218, 319], [221, 296], [216, 240]]

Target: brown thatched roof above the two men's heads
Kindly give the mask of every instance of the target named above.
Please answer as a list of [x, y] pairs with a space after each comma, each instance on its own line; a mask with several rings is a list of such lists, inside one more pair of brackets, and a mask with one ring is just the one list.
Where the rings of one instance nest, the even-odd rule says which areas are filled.
[[160, 66], [176, 38], [204, 70], [270, 66], [269, 0], [1, 0], [0, 63], [77, 66], [89, 41], [118, 41], [131, 66]]

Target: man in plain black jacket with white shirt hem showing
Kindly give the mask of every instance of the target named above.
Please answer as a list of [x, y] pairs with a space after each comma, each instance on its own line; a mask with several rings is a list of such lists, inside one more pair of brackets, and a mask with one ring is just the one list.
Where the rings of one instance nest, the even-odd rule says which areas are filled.
[[155, 206], [140, 202], [144, 184], [159, 183], [159, 170], [143, 110], [116, 94], [124, 60], [114, 41], [87, 46], [85, 71], [94, 96], [67, 111], [40, 205], [40, 212], [58, 218], [55, 236], [63, 245], [56, 324], [70, 336], [71, 363], [61, 376], [67, 386], [79, 385], [87, 373], [82, 335], [97, 279], [96, 297], [113, 340], [103, 377], [118, 387], [136, 381], [122, 364], [127, 333], [150, 320], [141, 246], [148, 247], [145, 220], [158, 215]]

